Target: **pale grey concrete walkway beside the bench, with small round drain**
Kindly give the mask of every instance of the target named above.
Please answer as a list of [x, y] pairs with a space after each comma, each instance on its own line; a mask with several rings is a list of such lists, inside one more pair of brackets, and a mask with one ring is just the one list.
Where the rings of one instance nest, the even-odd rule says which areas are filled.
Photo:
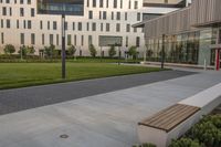
[[192, 74], [1, 115], [0, 147], [130, 147], [138, 141], [137, 122], [220, 83], [220, 75]]

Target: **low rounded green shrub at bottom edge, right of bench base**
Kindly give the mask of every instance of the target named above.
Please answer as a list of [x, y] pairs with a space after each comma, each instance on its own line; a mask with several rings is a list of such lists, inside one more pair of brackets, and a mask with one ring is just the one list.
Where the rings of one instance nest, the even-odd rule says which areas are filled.
[[172, 140], [169, 147], [202, 147], [198, 140], [190, 138], [181, 138], [179, 140]]

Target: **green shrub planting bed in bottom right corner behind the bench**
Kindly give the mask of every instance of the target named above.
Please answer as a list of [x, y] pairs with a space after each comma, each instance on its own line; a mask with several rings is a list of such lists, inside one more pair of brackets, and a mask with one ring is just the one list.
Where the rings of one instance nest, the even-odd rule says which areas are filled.
[[[160, 141], [160, 140], [159, 140]], [[151, 144], [134, 147], [155, 147]], [[221, 147], [221, 114], [204, 116], [169, 147]]]

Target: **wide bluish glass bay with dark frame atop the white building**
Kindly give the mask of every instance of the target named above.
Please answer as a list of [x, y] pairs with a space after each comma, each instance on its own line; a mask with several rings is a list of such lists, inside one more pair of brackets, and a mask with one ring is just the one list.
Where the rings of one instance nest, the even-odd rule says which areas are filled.
[[84, 14], [84, 0], [38, 0], [39, 14]]

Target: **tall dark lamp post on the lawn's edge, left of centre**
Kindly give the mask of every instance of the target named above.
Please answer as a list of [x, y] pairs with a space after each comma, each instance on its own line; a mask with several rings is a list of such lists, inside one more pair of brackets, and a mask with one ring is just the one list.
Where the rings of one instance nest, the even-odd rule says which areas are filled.
[[66, 52], [65, 52], [65, 14], [62, 14], [62, 78], [66, 78], [66, 65], [65, 65]]

